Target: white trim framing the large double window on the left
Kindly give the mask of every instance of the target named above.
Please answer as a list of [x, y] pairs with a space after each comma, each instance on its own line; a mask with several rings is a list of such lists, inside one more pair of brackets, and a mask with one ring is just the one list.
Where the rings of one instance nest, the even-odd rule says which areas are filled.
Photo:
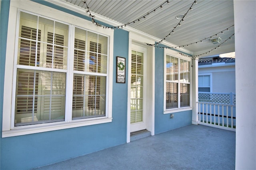
[[[14, 83], [13, 75], [16, 72], [15, 68], [15, 55], [14, 52], [17, 49], [16, 43], [16, 28], [18, 27], [17, 20], [19, 20], [18, 12], [19, 10], [26, 11], [28, 13], [34, 13], [39, 16], [48, 16], [54, 18], [54, 20], [60, 22], [68, 22], [74, 26], [85, 28], [89, 31], [96, 32], [97, 34], [103, 34], [109, 36], [109, 52], [108, 52], [108, 79], [106, 81], [106, 116], [96, 117], [88, 119], [73, 120], [65, 116], [65, 121], [57, 123], [46, 123], [38, 125], [28, 125], [22, 127], [13, 127], [12, 121], [14, 115], [14, 107], [12, 105], [12, 100], [15, 98], [12, 93], [12, 86]], [[47, 17], [45, 17], [47, 18]], [[71, 36], [72, 38], [72, 36]], [[14, 45], [15, 44], [15, 45]], [[82, 18], [67, 14], [56, 9], [38, 5], [36, 2], [32, 1], [11, 1], [10, 2], [10, 12], [9, 12], [9, 22], [8, 22], [8, 33], [7, 33], [7, 46], [6, 46], [6, 63], [5, 63], [5, 76], [4, 76], [4, 101], [3, 101], [3, 123], [2, 123], [2, 137], [19, 136], [24, 134], [33, 134], [38, 132], [47, 132], [52, 130], [60, 130], [66, 128], [82, 127], [88, 125], [96, 125], [101, 123], [112, 122], [112, 82], [113, 82], [113, 45], [114, 45], [114, 30], [103, 30], [100, 27], [96, 27], [92, 22], [84, 20]], [[70, 49], [72, 50], [72, 48]], [[72, 72], [72, 71], [70, 71]], [[67, 75], [70, 76], [70, 75]], [[15, 85], [14, 85], [15, 86]], [[72, 90], [72, 87], [67, 86], [66, 90]], [[70, 89], [71, 88], [71, 89]], [[70, 96], [69, 96], [70, 98]], [[68, 109], [68, 108], [67, 108]], [[70, 108], [69, 108], [70, 110]], [[71, 108], [72, 111], [72, 108]], [[67, 114], [65, 114], [67, 115]], [[11, 119], [12, 118], [12, 119]]]

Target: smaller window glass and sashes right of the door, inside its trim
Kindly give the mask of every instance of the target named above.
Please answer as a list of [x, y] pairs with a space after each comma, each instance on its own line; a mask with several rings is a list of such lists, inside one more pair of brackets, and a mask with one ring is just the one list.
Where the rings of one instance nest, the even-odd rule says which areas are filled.
[[165, 57], [165, 110], [190, 107], [190, 61]]

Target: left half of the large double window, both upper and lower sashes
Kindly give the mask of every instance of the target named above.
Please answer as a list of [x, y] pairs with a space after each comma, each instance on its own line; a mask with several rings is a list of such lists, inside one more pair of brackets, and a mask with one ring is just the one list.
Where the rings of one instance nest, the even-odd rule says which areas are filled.
[[66, 73], [52, 69], [66, 68], [67, 28], [65, 24], [21, 12], [15, 126], [64, 121]]

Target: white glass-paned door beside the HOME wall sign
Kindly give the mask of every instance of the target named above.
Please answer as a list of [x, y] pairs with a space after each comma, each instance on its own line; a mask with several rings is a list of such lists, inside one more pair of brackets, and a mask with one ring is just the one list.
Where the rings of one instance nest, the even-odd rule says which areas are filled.
[[132, 45], [130, 73], [130, 132], [146, 129], [146, 51], [145, 47]]

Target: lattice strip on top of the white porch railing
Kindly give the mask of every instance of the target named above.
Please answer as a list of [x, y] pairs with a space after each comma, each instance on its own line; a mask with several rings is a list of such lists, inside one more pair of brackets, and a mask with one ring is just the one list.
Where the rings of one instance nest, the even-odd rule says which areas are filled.
[[[232, 96], [230, 97], [230, 95]], [[233, 93], [198, 93], [198, 101], [235, 105], [236, 95]]]

